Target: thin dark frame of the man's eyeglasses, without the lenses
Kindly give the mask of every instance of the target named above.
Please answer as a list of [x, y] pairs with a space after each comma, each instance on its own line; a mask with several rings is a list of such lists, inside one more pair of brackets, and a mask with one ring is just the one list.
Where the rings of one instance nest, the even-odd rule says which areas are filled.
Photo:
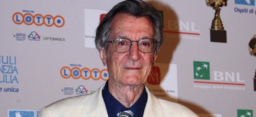
[[[113, 43], [114, 43], [116, 40], [118, 40], [118, 39], [126, 39], [126, 38], [117, 38], [117, 39], [114, 39], [113, 41], [107, 41], [108, 43], [112, 43], [112, 48], [113, 48], [113, 50], [114, 50], [115, 52], [117, 52], [117, 51], [114, 49]], [[128, 49], [127, 51], [125, 51], [125, 52], [128, 52], [128, 51], [131, 49], [132, 42], [137, 42], [138, 50], [139, 50], [140, 52], [142, 52], [142, 51], [140, 50], [140, 48], [139, 48], [138, 42], [141, 41], [141, 40], [143, 40], [143, 39], [151, 39], [151, 38], [141, 38], [141, 39], [139, 39], [138, 41], [131, 41], [130, 39], [127, 39], [127, 40], [129, 40], [129, 41], [131, 42], [131, 44], [129, 45], [129, 49]], [[157, 48], [158, 41], [155, 40], [155, 39], [152, 39], [152, 41], [153, 41], [153, 43], [156, 44], [155, 47], [154, 47], [154, 49], [151, 51], [151, 52], [154, 52], [154, 51], [156, 50], [156, 48]], [[125, 53], [125, 52], [118, 52], [118, 53]], [[151, 52], [143, 52], [143, 53], [151, 53]]]

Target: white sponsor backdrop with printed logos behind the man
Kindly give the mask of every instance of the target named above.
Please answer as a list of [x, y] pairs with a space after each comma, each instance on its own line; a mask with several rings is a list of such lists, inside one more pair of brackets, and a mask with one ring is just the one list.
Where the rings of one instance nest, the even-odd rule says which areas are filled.
[[[0, 116], [37, 117], [102, 86], [95, 29], [121, 1], [1, 0]], [[255, 0], [146, 2], [161, 13], [165, 37], [150, 91], [200, 117], [256, 117]]]

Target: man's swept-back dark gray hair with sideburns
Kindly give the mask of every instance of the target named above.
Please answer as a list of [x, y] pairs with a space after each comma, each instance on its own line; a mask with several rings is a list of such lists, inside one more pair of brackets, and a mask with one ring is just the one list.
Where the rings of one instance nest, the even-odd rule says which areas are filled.
[[163, 43], [160, 13], [153, 5], [141, 0], [126, 0], [118, 3], [104, 16], [96, 30], [95, 45], [97, 49], [104, 47], [105, 51], [107, 51], [107, 41], [110, 41], [108, 39], [111, 34], [111, 21], [119, 13], [126, 13], [135, 17], [148, 17], [154, 26], [154, 39], [158, 42], [156, 50], [158, 51], [160, 49]]

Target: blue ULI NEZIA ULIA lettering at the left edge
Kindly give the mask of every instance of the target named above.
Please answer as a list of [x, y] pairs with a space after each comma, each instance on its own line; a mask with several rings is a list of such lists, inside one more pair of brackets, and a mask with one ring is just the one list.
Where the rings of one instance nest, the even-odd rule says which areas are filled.
[[16, 64], [16, 57], [0, 56], [0, 83], [18, 83]]

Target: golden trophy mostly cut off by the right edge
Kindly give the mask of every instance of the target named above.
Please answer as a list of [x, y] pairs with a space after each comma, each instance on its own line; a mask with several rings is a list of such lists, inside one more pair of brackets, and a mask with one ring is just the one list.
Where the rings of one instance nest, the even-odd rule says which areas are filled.
[[[256, 57], [256, 34], [251, 38], [251, 41], [248, 44], [248, 49], [250, 51], [250, 55]], [[254, 91], [256, 91], [256, 70], [253, 78], [254, 83]]]

